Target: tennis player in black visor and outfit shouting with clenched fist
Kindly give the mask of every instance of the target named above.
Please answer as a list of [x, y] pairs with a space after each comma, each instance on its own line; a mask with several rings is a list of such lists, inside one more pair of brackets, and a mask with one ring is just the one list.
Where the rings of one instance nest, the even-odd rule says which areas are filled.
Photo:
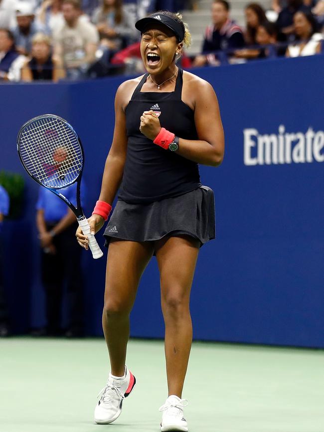
[[[189, 295], [199, 247], [215, 237], [214, 195], [202, 186], [198, 164], [217, 167], [224, 136], [212, 86], [179, 69], [175, 60], [190, 34], [179, 13], [140, 19], [147, 73], [125, 81], [115, 99], [115, 131], [99, 201], [89, 218], [98, 231], [116, 208], [104, 236], [109, 246], [103, 329], [111, 372], [95, 408], [95, 422], [121, 414], [134, 388], [126, 367], [129, 315], [141, 275], [155, 254], [161, 276], [168, 398], [161, 431], [188, 431], [182, 398], [192, 340]], [[79, 243], [88, 248], [78, 229]]]

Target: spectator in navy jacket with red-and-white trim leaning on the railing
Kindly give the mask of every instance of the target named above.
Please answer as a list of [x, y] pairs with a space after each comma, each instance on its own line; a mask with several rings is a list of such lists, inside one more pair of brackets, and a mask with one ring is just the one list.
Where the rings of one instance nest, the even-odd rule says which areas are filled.
[[202, 46], [202, 55], [198, 55], [193, 66], [206, 63], [217, 64], [212, 51], [241, 48], [244, 46], [242, 29], [229, 17], [230, 4], [226, 0], [214, 0], [211, 5], [213, 23], [208, 25]]

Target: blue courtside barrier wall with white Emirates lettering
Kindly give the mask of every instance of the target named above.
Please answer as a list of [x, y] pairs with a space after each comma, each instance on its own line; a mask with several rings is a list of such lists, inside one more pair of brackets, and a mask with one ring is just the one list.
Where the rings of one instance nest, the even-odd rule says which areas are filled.
[[[216, 91], [226, 142], [220, 167], [200, 167], [202, 183], [215, 193], [217, 238], [201, 248], [193, 281], [196, 339], [324, 348], [323, 70], [324, 56], [313, 56], [194, 71]], [[89, 212], [99, 195], [114, 95], [123, 80], [0, 86], [0, 169], [25, 176], [15, 148], [20, 125], [42, 113], [58, 114], [82, 138]], [[37, 186], [26, 178], [24, 216], [6, 222], [6, 286], [16, 332], [44, 324], [36, 195]], [[101, 335], [106, 262], [85, 253], [83, 264], [87, 334]], [[163, 331], [153, 258], [131, 333], [163, 337]]]

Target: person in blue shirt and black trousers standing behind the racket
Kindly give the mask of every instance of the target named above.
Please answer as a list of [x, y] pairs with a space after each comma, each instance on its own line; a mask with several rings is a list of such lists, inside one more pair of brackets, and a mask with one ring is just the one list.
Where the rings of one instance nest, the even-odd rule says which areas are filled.
[[[75, 188], [62, 189], [70, 201]], [[81, 247], [75, 241], [77, 228], [73, 212], [63, 201], [45, 188], [39, 188], [36, 224], [41, 246], [41, 278], [46, 294], [47, 335], [59, 336], [63, 287], [66, 286], [67, 336], [83, 335], [83, 284]]]

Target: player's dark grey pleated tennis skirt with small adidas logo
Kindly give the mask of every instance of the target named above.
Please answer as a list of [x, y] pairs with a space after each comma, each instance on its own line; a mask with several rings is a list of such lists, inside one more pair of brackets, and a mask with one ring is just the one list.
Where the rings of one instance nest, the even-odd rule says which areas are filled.
[[207, 186], [150, 204], [118, 201], [104, 232], [110, 239], [154, 241], [165, 235], [187, 234], [200, 246], [215, 238], [214, 193]]

